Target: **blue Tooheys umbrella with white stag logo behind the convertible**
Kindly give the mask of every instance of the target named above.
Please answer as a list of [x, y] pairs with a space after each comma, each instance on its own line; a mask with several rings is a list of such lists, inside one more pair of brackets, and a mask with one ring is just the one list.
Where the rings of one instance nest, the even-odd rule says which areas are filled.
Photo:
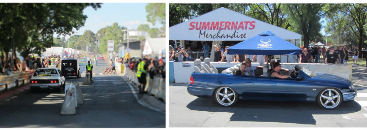
[[298, 55], [301, 49], [266, 30], [259, 35], [228, 48], [228, 54]]

